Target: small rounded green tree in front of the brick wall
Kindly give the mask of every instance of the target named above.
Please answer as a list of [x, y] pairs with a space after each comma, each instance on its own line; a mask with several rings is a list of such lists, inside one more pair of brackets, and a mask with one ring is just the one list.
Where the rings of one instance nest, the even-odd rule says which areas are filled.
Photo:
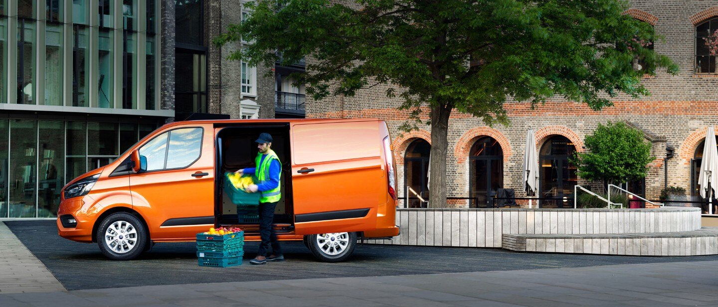
[[587, 152], [577, 153], [572, 164], [583, 179], [608, 184], [628, 182], [645, 177], [651, 156], [651, 143], [643, 133], [623, 122], [598, 125], [584, 140]]

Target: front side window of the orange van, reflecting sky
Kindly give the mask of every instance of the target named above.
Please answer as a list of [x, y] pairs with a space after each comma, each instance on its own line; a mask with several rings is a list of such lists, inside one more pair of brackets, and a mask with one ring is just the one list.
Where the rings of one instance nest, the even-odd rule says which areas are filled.
[[181, 169], [200, 157], [201, 144], [202, 128], [175, 129], [144, 144], [139, 148], [139, 154], [147, 159], [145, 171]]

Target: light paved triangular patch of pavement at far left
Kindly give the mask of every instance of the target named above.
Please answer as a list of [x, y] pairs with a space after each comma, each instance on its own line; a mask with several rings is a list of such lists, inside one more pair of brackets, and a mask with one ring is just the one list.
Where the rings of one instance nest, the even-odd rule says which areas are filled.
[[0, 294], [47, 291], [65, 287], [0, 222]]

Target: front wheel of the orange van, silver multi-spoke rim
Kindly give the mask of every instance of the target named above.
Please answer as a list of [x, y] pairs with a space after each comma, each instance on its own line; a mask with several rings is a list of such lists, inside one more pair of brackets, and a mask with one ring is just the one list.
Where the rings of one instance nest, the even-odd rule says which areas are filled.
[[147, 230], [132, 214], [118, 212], [103, 219], [97, 230], [97, 244], [111, 260], [132, 260], [145, 251]]

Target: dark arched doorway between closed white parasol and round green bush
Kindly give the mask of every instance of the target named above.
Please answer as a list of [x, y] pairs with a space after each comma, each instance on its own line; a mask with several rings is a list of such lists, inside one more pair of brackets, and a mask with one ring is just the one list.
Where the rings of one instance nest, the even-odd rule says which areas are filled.
[[[574, 143], [565, 136], [551, 136], [538, 153], [541, 161], [539, 173], [540, 197], [556, 197], [561, 200], [542, 200], [542, 208], [573, 207], [574, 185], [577, 184], [576, 166], [569, 157], [576, 152]], [[566, 199], [563, 199], [567, 197]]]

